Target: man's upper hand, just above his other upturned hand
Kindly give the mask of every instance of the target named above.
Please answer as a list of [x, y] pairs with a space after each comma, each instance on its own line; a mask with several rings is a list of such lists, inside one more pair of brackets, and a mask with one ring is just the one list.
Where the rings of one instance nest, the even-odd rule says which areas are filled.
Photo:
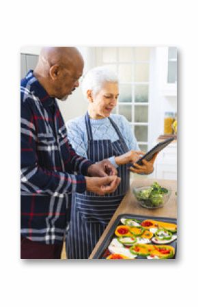
[[88, 168], [88, 175], [91, 177], [115, 176], [117, 175], [117, 170], [108, 159], [104, 159], [98, 163], [91, 164]]

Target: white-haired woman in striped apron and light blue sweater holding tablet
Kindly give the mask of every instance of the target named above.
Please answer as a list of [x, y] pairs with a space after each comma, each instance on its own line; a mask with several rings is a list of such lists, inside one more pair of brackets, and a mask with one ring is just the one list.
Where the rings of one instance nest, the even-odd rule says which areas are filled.
[[89, 258], [104, 228], [125, 196], [129, 187], [130, 171], [150, 174], [152, 161], [128, 168], [144, 152], [139, 150], [130, 124], [121, 115], [111, 114], [119, 96], [118, 79], [114, 72], [105, 67], [96, 67], [85, 75], [82, 90], [89, 102], [87, 114], [70, 120], [68, 139], [78, 155], [91, 161], [109, 159], [117, 168], [121, 182], [117, 190], [107, 196], [94, 193], [75, 193], [72, 200], [70, 230], [66, 240], [67, 257]]

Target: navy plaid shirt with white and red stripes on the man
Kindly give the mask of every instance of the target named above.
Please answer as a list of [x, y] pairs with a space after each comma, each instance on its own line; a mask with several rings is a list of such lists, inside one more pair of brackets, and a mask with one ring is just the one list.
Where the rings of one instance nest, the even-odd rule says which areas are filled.
[[55, 99], [32, 70], [21, 81], [20, 93], [21, 234], [41, 243], [60, 243], [71, 195], [85, 191], [83, 175], [92, 162], [76, 155]]

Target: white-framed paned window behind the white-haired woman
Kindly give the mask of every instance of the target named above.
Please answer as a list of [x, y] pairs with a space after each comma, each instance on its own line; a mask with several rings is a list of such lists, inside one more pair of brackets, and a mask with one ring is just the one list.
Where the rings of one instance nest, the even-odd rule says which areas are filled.
[[117, 73], [119, 101], [113, 113], [126, 117], [135, 133], [139, 147], [147, 152], [150, 48], [96, 48], [96, 65], [107, 66]]

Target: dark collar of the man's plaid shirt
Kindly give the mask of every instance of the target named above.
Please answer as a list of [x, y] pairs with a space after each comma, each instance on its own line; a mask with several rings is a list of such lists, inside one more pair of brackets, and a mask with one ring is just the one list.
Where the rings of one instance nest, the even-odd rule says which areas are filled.
[[48, 95], [46, 90], [40, 84], [38, 79], [33, 75], [33, 70], [29, 70], [26, 75], [26, 79], [29, 79], [30, 90], [35, 96], [38, 96], [39, 100], [45, 107], [54, 105], [55, 98]]

